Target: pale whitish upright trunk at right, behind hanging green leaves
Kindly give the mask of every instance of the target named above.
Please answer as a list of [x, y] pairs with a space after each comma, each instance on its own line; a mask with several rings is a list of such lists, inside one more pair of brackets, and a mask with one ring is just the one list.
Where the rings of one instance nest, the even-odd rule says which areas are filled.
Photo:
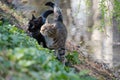
[[[103, 27], [104, 32], [101, 32], [98, 28], [101, 26], [101, 12], [99, 10], [99, 1], [93, 1], [93, 10], [94, 10], [94, 26], [93, 26], [93, 33], [92, 33], [92, 47], [93, 47], [93, 58], [97, 61], [108, 63], [109, 66], [113, 64], [113, 50], [112, 50], [112, 22], [109, 20], [108, 16], [109, 12], [112, 10], [112, 4], [110, 1], [106, 1], [107, 8], [109, 6], [106, 15], [104, 16], [105, 19], [105, 26]], [[107, 4], [108, 3], [108, 4]], [[111, 23], [111, 24], [109, 24]]]

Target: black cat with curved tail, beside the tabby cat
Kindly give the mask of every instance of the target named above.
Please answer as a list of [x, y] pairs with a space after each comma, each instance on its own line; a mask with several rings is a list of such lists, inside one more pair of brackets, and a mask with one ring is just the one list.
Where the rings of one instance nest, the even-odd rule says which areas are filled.
[[46, 22], [48, 15], [52, 14], [53, 10], [44, 11], [39, 18], [32, 15], [32, 19], [28, 23], [28, 31], [31, 32], [31, 36], [35, 38], [38, 44], [42, 44], [44, 48], [47, 48], [44, 36], [39, 32], [41, 26]]

